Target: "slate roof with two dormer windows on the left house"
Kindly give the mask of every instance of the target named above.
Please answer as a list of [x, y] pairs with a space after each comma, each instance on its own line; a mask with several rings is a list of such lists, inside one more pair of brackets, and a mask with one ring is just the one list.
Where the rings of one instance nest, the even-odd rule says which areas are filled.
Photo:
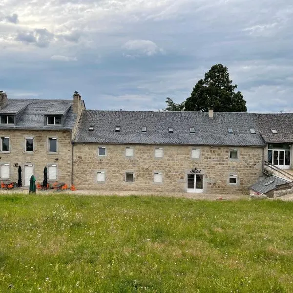
[[[17, 114], [15, 125], [0, 124], [0, 129], [73, 129], [77, 115], [73, 100], [8, 99], [0, 114]], [[46, 126], [45, 114], [63, 115], [62, 126]]]

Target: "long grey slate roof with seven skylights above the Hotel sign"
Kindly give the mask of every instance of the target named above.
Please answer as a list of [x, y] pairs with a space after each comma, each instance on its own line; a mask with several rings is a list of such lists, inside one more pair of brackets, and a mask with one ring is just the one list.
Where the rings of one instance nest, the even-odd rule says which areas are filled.
[[[94, 126], [93, 131], [88, 131]], [[120, 132], [115, 127], [120, 126]], [[142, 126], [147, 127], [142, 132]], [[173, 133], [168, 133], [173, 127]], [[195, 127], [195, 133], [190, 133]], [[233, 128], [233, 134], [228, 133]], [[249, 128], [256, 134], [251, 134]], [[140, 112], [84, 110], [74, 142], [114, 144], [264, 146], [255, 114], [215, 112]]]

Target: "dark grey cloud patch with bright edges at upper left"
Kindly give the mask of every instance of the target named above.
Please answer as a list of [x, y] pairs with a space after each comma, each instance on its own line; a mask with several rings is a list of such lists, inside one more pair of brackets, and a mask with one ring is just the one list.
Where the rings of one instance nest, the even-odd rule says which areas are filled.
[[18, 32], [15, 38], [16, 41], [32, 43], [40, 48], [47, 47], [53, 39], [54, 34], [50, 33], [46, 28]]

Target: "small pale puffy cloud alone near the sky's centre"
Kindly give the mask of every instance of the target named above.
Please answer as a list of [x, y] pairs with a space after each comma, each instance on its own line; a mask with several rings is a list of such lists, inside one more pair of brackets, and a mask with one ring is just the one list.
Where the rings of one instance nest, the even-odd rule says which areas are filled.
[[126, 42], [123, 48], [129, 52], [125, 54], [126, 57], [153, 56], [164, 52], [156, 43], [149, 40], [131, 40]]

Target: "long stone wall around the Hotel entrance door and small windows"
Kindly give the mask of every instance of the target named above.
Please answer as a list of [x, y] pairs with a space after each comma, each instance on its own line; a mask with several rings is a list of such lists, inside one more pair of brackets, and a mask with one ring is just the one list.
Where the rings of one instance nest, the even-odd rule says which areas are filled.
[[[106, 148], [98, 156], [98, 146]], [[204, 175], [207, 193], [249, 193], [248, 187], [262, 175], [262, 147], [229, 146], [154, 146], [133, 145], [134, 156], [126, 157], [126, 145], [75, 144], [74, 184], [79, 189], [187, 192], [187, 174], [197, 168]], [[155, 147], [163, 147], [162, 158], [155, 158]], [[200, 157], [191, 158], [191, 149], [199, 148]], [[230, 159], [230, 150], [238, 158]], [[105, 172], [105, 182], [97, 181], [97, 172]], [[126, 172], [134, 181], [126, 182]], [[154, 172], [163, 174], [163, 182], [154, 182]], [[229, 176], [237, 176], [237, 184]]]

